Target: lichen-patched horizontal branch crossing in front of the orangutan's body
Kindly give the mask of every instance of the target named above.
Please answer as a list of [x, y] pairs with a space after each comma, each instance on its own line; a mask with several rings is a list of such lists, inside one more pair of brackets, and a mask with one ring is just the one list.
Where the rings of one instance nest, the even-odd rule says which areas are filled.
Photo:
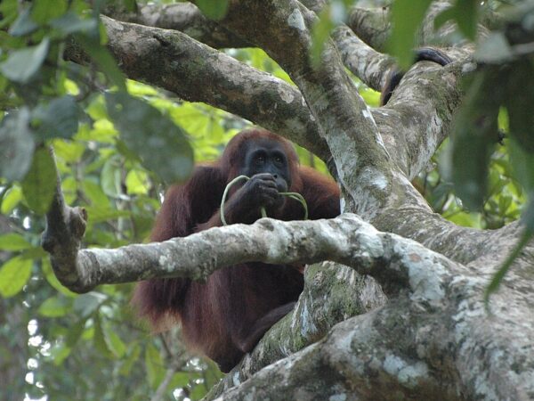
[[[427, 267], [420, 264], [420, 259], [410, 260], [403, 252], [419, 253], [421, 246], [401, 237], [378, 233], [355, 215], [293, 222], [261, 219], [254, 225], [216, 227], [164, 242], [127, 245], [115, 250], [79, 251], [77, 246], [53, 246], [66, 232], [62, 227], [76, 221], [68, 207], [63, 208], [61, 214], [54, 208], [47, 221], [44, 248], [51, 253], [60, 281], [77, 292], [91, 291], [100, 284], [156, 277], [204, 280], [218, 268], [254, 261], [287, 265], [333, 260], [352, 266], [360, 274], [374, 276], [392, 293], [410, 287], [414, 281], [417, 282], [417, 288], [412, 288], [415, 293], [438, 293], [441, 280], [428, 282], [428, 288], [427, 284], [418, 286], [418, 282], [424, 280]], [[61, 225], [53, 222], [61, 222]], [[71, 233], [71, 241], [79, 243], [82, 234]], [[447, 259], [437, 255], [429, 258], [441, 266], [433, 267], [434, 274], [447, 274]], [[134, 265], [132, 260], [136, 261]]]

